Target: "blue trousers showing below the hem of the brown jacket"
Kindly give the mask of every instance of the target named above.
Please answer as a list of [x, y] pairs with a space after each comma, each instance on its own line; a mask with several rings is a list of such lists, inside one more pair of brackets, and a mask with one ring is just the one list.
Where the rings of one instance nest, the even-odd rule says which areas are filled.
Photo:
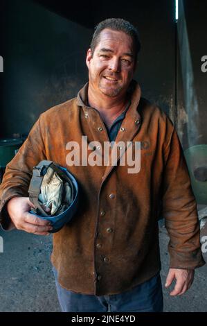
[[64, 312], [162, 312], [163, 292], [159, 274], [129, 291], [111, 295], [80, 294], [66, 290], [57, 282], [57, 296]]

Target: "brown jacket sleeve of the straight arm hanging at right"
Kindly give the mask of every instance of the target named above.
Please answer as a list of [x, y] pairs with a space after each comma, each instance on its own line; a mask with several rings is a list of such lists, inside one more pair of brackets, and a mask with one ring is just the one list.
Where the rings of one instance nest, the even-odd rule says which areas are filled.
[[174, 128], [165, 146], [163, 217], [170, 236], [170, 268], [194, 269], [204, 265], [197, 205], [186, 160]]

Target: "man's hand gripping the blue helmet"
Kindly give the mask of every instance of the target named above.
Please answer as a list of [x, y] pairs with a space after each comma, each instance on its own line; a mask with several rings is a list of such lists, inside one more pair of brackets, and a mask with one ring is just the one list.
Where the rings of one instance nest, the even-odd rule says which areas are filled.
[[51, 223], [30, 214], [30, 208], [33, 203], [28, 197], [14, 197], [8, 201], [8, 214], [18, 230], [24, 230], [29, 233], [48, 235], [53, 228]]

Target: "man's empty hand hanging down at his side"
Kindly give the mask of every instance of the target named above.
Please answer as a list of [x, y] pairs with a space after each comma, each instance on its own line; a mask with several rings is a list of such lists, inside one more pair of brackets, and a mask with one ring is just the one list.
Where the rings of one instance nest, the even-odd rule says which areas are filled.
[[190, 269], [179, 269], [179, 268], [170, 268], [165, 287], [168, 288], [172, 281], [175, 279], [176, 284], [174, 289], [170, 292], [170, 295], [181, 295], [185, 293], [190, 286], [192, 285], [194, 278], [194, 270]]

